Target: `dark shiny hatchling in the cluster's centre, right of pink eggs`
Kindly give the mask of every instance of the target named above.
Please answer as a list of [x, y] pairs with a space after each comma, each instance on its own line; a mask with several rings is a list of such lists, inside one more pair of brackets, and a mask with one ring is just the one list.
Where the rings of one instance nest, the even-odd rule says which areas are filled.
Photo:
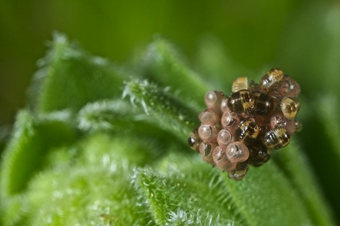
[[248, 118], [239, 123], [235, 133], [239, 141], [243, 141], [246, 145], [252, 145], [258, 140], [260, 128], [253, 118]]

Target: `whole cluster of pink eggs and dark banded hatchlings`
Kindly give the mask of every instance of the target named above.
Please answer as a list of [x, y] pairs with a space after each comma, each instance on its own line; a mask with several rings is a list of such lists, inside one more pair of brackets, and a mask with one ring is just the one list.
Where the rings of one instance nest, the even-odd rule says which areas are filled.
[[300, 85], [278, 68], [259, 83], [248, 85], [247, 78], [238, 78], [230, 97], [218, 91], [205, 94], [207, 109], [198, 115], [202, 124], [188, 143], [204, 161], [240, 180], [249, 165], [267, 162], [273, 150], [289, 145], [290, 135], [301, 129], [295, 119], [299, 94]]

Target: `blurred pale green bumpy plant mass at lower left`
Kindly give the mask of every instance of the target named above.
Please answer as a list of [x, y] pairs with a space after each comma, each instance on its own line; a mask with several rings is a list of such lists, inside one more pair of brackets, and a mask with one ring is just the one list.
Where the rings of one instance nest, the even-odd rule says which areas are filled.
[[164, 154], [160, 148], [152, 140], [91, 134], [50, 152], [45, 170], [20, 197], [10, 199], [20, 199], [21, 205], [5, 207], [15, 210], [24, 225], [145, 225], [150, 217], [136, 205], [130, 178], [134, 166]]

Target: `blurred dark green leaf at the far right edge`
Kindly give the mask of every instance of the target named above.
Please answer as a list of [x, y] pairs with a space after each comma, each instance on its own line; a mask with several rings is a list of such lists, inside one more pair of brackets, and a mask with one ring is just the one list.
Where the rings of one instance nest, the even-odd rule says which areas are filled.
[[[310, 104], [311, 114], [304, 121], [304, 130], [299, 134], [324, 195], [336, 213], [340, 210], [338, 103], [338, 98], [333, 95], [323, 94], [316, 97]], [[337, 215], [336, 217], [339, 218]]]

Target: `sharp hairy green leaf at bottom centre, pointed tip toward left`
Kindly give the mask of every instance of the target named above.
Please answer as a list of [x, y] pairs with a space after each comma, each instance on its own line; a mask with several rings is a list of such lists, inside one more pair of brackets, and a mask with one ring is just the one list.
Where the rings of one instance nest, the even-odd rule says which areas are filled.
[[242, 224], [219, 175], [197, 157], [170, 154], [159, 165], [162, 173], [135, 169], [133, 181], [154, 224]]

